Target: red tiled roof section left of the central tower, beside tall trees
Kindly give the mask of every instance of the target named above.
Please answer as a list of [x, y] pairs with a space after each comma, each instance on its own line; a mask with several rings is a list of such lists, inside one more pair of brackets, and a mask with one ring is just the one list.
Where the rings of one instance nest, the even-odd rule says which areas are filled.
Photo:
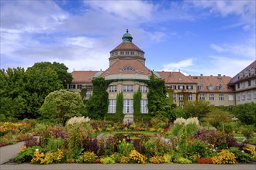
[[93, 76], [99, 71], [73, 71], [72, 83], [92, 83]]

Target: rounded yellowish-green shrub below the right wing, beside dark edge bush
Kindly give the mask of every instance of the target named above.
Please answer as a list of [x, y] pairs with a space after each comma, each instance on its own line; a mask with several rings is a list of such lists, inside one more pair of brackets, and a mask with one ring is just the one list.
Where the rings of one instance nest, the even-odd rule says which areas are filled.
[[212, 108], [206, 113], [206, 117], [204, 117], [203, 120], [213, 125], [214, 128], [217, 128], [222, 125], [221, 123], [230, 123], [232, 121], [232, 116], [230, 115], [230, 112]]

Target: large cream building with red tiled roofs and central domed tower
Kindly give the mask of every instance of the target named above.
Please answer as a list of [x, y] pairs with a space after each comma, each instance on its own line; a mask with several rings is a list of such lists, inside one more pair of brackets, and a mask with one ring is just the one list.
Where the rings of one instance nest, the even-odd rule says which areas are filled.
[[[168, 97], [182, 107], [185, 100], [206, 100], [214, 106], [230, 107], [245, 102], [256, 103], [255, 61], [231, 78], [230, 76], [185, 76], [181, 72], [152, 71], [145, 66], [145, 53], [133, 43], [128, 30], [123, 41], [110, 51], [109, 68], [105, 71], [73, 71], [72, 91], [85, 90], [85, 99], [92, 96], [92, 80], [104, 77], [109, 84], [109, 113], [116, 113], [116, 96], [123, 92], [123, 113], [133, 114], [133, 93], [140, 89], [141, 113], [147, 113], [147, 81], [152, 73], [164, 80]], [[170, 96], [171, 95], [171, 96]]]

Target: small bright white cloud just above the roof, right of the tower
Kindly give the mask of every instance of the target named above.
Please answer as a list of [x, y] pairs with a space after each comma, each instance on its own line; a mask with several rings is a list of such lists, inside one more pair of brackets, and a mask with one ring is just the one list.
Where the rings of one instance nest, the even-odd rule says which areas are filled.
[[185, 59], [179, 61], [178, 63], [168, 63], [164, 64], [163, 70], [185, 70], [185, 68], [193, 65], [193, 59]]

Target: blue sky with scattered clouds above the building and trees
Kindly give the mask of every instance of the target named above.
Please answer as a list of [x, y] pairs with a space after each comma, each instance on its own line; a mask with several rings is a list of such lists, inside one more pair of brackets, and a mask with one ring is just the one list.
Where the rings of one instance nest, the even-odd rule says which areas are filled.
[[255, 1], [1, 0], [1, 68], [106, 70], [129, 29], [150, 70], [235, 76], [256, 58]]

